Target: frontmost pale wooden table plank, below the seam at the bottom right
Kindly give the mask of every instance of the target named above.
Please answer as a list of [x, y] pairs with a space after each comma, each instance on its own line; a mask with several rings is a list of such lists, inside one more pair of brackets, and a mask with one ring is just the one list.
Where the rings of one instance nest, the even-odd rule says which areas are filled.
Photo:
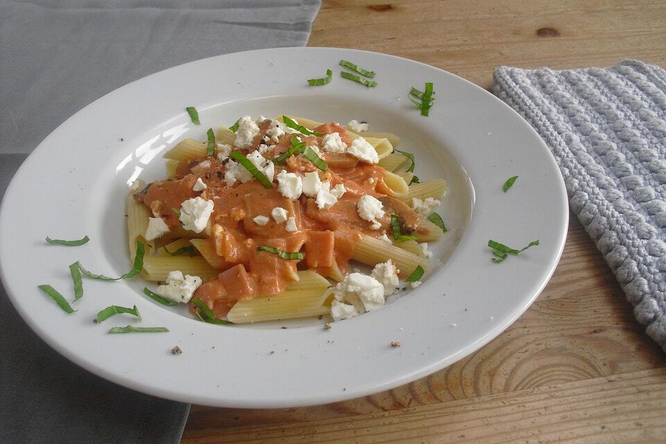
[[200, 429], [183, 443], [638, 443], [666, 439], [666, 370], [382, 413]]

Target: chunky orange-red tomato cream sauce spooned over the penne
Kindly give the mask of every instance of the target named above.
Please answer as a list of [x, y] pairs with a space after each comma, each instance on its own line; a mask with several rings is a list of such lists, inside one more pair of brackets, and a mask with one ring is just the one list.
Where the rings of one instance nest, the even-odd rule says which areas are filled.
[[[253, 146], [234, 147], [245, 155], [266, 143], [264, 134], [271, 121], [259, 123], [259, 135]], [[337, 123], [326, 123], [314, 128], [315, 133], [339, 133], [348, 146], [351, 144], [346, 130]], [[291, 134], [280, 137], [279, 142], [268, 146], [264, 157], [277, 157], [291, 146]], [[309, 146], [321, 146], [321, 137], [299, 135]], [[263, 141], [263, 142], [262, 142]], [[297, 200], [290, 200], [278, 191], [278, 181], [273, 180], [273, 188], [266, 189], [258, 180], [236, 182], [227, 187], [224, 180], [225, 164], [217, 157], [181, 162], [173, 180], [153, 182], [137, 198], [151, 209], [155, 217], [162, 217], [169, 227], [179, 227], [177, 210], [180, 204], [196, 196], [212, 200], [213, 214], [206, 233], [217, 255], [225, 261], [225, 269], [216, 279], [201, 285], [194, 296], [205, 302], [217, 316], [225, 316], [238, 300], [255, 296], [268, 296], [282, 293], [290, 282], [298, 280], [299, 269], [313, 269], [325, 277], [333, 273], [345, 273], [354, 254], [354, 245], [361, 233], [373, 237], [384, 234], [391, 225], [391, 214], [398, 214], [407, 230], [418, 228], [418, 216], [400, 200], [388, 196], [384, 183], [384, 170], [377, 165], [359, 162], [348, 153], [321, 153], [327, 163], [327, 171], [321, 171], [300, 155], [292, 155], [280, 166], [275, 166], [275, 177], [282, 169], [287, 172], [307, 173], [316, 171], [322, 182], [330, 181], [331, 187], [342, 184], [345, 194], [327, 210], [320, 210], [315, 199], [302, 194]], [[204, 191], [193, 191], [197, 179], [207, 185]], [[382, 225], [378, 230], [370, 228], [369, 221], [361, 219], [357, 205], [364, 195], [374, 196], [384, 205], [384, 216], [377, 221]], [[276, 223], [271, 212], [276, 207], [287, 210], [288, 217], [294, 218], [296, 231], [287, 231], [287, 224]], [[268, 217], [266, 225], [257, 224], [257, 216]], [[305, 259], [298, 262], [282, 259], [275, 253], [257, 250], [264, 245], [291, 253], [302, 252]]]

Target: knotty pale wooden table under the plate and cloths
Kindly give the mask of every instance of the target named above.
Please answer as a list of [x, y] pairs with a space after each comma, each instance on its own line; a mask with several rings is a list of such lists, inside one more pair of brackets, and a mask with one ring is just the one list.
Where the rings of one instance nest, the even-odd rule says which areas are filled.
[[[500, 65], [666, 67], [666, 2], [325, 0], [309, 46], [434, 65], [488, 88]], [[183, 443], [666, 441], [666, 355], [572, 216], [556, 272], [506, 332], [384, 393], [298, 409], [192, 406]]]

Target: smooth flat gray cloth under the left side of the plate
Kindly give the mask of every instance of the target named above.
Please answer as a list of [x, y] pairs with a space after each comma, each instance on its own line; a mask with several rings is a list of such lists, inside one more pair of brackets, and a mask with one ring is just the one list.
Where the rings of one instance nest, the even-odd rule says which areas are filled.
[[[302, 46], [318, 8], [315, 0], [0, 0], [0, 196], [26, 155], [88, 103], [191, 60]], [[0, 443], [180, 442], [188, 404], [71, 364], [31, 332], [1, 286], [0, 325]]]

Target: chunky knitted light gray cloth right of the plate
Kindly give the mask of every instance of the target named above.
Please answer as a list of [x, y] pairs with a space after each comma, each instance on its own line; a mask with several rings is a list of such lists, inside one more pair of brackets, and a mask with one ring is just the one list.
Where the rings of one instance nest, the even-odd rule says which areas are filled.
[[493, 91], [543, 137], [572, 211], [666, 350], [666, 71], [637, 60], [500, 67]]

